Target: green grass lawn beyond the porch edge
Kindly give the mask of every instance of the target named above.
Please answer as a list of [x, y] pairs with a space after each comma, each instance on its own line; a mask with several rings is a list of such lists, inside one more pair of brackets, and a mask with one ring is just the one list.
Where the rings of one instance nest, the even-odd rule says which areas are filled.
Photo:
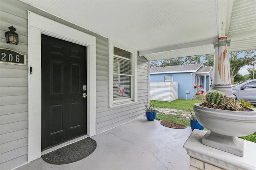
[[[189, 109], [192, 111], [193, 113], [193, 105], [194, 103], [201, 103], [203, 102], [202, 100], [196, 101], [196, 100], [182, 100], [182, 99], [177, 99], [174, 100], [172, 102], [167, 102], [167, 101], [155, 101], [155, 107], [157, 108], [169, 108], [169, 109], [176, 109], [176, 115], [172, 115], [172, 114], [164, 114], [161, 112], [157, 112], [156, 113], [156, 119], [162, 120], [162, 121], [169, 121], [172, 123], [178, 123], [180, 125], [186, 125], [188, 127], [190, 127], [190, 120], [184, 116], [182, 116], [182, 114], [184, 114], [184, 112], [190, 113]], [[254, 106], [254, 108], [256, 108], [256, 106]], [[253, 134], [249, 135], [249, 136], [244, 136], [241, 137], [244, 140], [249, 140], [252, 142], [256, 143], [256, 132], [254, 132]]]

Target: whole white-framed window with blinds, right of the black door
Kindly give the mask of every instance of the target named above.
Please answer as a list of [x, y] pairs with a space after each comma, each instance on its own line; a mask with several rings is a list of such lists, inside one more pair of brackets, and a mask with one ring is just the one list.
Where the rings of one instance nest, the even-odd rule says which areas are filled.
[[108, 103], [109, 108], [138, 102], [138, 51], [108, 40]]

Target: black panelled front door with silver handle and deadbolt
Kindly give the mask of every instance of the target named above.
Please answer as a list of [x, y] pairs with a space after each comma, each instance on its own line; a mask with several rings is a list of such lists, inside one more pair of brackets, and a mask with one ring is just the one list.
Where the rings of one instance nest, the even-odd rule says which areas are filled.
[[86, 47], [41, 34], [42, 150], [87, 132]]

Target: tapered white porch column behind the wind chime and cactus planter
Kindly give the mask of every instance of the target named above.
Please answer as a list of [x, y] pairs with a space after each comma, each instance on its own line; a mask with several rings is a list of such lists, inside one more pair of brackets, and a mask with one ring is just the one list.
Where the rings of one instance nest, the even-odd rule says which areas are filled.
[[[218, 90], [224, 93], [227, 97], [235, 98], [231, 89], [230, 78], [230, 61], [227, 48], [227, 57], [219, 57], [218, 42], [214, 45], [214, 64], [213, 64], [213, 77], [212, 77], [212, 90]], [[227, 40], [227, 45], [230, 46], [230, 40]]]

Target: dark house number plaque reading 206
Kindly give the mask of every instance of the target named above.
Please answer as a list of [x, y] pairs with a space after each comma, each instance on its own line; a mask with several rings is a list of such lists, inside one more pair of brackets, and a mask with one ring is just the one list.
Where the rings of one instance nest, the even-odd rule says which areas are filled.
[[0, 47], [0, 63], [26, 65], [26, 55], [12, 49]]

